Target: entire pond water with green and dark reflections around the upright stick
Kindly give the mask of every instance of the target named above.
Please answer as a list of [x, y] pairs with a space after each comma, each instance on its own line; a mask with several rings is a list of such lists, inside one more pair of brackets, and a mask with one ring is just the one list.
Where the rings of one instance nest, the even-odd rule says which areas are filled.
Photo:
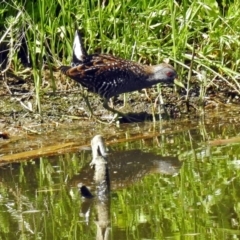
[[105, 205], [79, 194], [94, 193], [90, 150], [4, 165], [0, 239], [239, 239], [239, 130], [214, 118], [101, 132], [130, 139], [109, 146]]

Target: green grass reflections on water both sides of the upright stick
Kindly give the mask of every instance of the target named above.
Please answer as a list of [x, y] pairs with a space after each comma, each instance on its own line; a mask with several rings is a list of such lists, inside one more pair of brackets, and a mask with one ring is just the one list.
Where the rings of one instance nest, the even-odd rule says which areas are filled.
[[[207, 139], [227, 138], [238, 132], [232, 124], [215, 126], [214, 131], [206, 126], [115, 146], [115, 151], [141, 147], [163, 156], [179, 156], [183, 166], [175, 176], [148, 175], [112, 192], [113, 239], [163, 239], [191, 234], [199, 234], [197, 239], [219, 239], [237, 234], [240, 173], [232, 160], [239, 159], [239, 146], [209, 147]], [[92, 210], [87, 225], [79, 216], [79, 192], [68, 185], [90, 161], [90, 151], [82, 151], [0, 169], [2, 238], [28, 235], [28, 239], [35, 239], [41, 235], [43, 239], [94, 239], [96, 212]]]

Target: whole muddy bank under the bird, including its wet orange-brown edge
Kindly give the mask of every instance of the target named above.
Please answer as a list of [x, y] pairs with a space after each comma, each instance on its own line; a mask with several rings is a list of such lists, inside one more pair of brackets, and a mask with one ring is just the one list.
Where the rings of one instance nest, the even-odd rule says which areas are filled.
[[[114, 123], [111, 127], [99, 123], [96, 118], [90, 116], [82, 96], [84, 89], [58, 72], [55, 72], [54, 78], [55, 92], [50, 88], [49, 74], [45, 72], [40, 94], [40, 114], [36, 107], [31, 74], [27, 77], [16, 77], [13, 74], [1, 77], [0, 157], [9, 153], [28, 151], [27, 155], [21, 157], [27, 159], [34, 155], [56, 154], [61, 149], [75, 151], [79, 146], [85, 146], [91, 137], [99, 133], [104, 134], [109, 141], [113, 139], [118, 141], [125, 139], [125, 132], [128, 132], [129, 128], [130, 132], [139, 138], [152, 128], [136, 122], [129, 126], [121, 124], [121, 128]], [[157, 87], [126, 94], [125, 106], [123, 94], [112, 99], [112, 104], [124, 113], [144, 113], [143, 122], [152, 122], [154, 111], [156, 119], [160, 117], [168, 120], [166, 128], [172, 126], [174, 121], [174, 127], [169, 130], [170, 132], [183, 128], [196, 128], [197, 122], [202, 118], [206, 124], [217, 121], [222, 121], [223, 124], [224, 121], [238, 121], [234, 119], [238, 118], [240, 113], [240, 98], [226, 83], [215, 80], [207, 88], [203, 102], [199, 98], [197, 83], [193, 83], [191, 89], [189, 101], [185, 100], [186, 92], [182, 89], [176, 89], [176, 86], [163, 86], [162, 105], [159, 104]], [[89, 93], [88, 99], [97, 119], [105, 122], [112, 119], [113, 114], [102, 107], [102, 99], [99, 96]], [[152, 134], [153, 132], [150, 131], [150, 137]], [[43, 152], [34, 152], [39, 148], [43, 148]]]

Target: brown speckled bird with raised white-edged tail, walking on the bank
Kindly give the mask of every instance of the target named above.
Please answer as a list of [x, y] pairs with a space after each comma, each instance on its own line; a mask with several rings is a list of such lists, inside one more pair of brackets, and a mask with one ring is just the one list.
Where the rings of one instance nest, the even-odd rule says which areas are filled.
[[60, 71], [102, 97], [105, 109], [124, 117], [108, 105], [111, 97], [158, 83], [173, 84], [177, 78], [176, 70], [167, 63], [150, 66], [110, 54], [88, 54], [79, 30], [74, 36], [71, 66], [63, 65]]

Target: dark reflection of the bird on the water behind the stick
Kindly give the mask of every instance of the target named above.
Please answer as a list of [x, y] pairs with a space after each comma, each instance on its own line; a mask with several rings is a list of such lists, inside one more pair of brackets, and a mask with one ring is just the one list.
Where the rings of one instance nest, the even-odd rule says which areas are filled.
[[[114, 152], [108, 158], [111, 190], [125, 188], [152, 173], [176, 174], [182, 165], [177, 157], [162, 157], [141, 150]], [[70, 180], [70, 184], [93, 187], [93, 175], [94, 169], [86, 164], [80, 174]]]

